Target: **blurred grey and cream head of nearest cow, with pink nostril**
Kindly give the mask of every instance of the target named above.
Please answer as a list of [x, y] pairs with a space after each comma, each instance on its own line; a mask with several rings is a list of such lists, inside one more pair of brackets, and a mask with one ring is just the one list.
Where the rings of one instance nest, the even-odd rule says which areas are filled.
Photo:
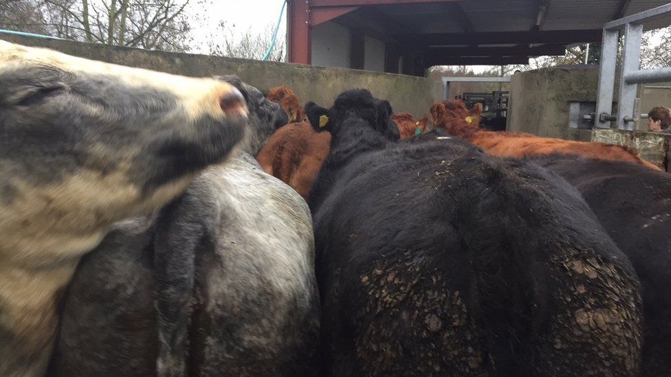
[[227, 82], [0, 41], [2, 242], [25, 229], [10, 247], [31, 249], [50, 229], [67, 238], [155, 209], [230, 154], [247, 114]]

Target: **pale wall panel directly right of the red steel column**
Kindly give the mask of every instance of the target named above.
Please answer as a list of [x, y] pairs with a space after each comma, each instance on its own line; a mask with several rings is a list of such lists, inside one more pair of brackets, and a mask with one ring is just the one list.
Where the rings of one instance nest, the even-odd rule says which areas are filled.
[[311, 35], [312, 65], [350, 67], [350, 34], [347, 27], [325, 22], [313, 27]]

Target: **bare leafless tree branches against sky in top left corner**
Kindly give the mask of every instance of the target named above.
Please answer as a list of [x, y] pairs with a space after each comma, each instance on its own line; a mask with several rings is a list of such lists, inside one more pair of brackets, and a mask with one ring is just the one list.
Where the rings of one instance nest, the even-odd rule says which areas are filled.
[[78, 41], [184, 51], [190, 41], [185, 10], [192, 1], [202, 0], [0, 0], [0, 26]]

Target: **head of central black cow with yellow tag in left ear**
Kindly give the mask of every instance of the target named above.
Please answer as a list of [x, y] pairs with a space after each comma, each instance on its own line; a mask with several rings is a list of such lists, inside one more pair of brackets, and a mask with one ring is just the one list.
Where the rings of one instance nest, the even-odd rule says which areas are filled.
[[345, 119], [354, 117], [363, 119], [387, 139], [397, 141], [400, 138], [398, 128], [391, 119], [393, 112], [389, 102], [373, 98], [366, 89], [350, 89], [340, 93], [330, 109], [308, 102], [305, 113], [316, 130], [327, 130], [333, 135], [338, 133]]

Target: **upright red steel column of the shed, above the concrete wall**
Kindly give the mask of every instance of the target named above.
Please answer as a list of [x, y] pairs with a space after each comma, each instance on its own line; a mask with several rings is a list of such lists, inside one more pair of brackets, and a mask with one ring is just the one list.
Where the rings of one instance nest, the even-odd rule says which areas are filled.
[[288, 16], [289, 62], [311, 63], [310, 10], [307, 0], [290, 0]]

